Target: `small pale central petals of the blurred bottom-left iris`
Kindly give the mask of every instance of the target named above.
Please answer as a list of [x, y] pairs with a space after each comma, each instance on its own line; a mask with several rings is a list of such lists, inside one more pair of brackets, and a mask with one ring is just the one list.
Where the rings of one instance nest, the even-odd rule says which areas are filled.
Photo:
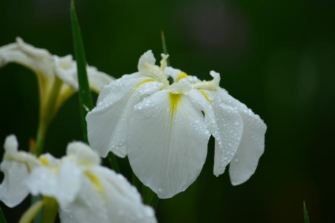
[[32, 195], [53, 197], [61, 208], [72, 203], [81, 188], [83, 171], [68, 158], [59, 166], [40, 166], [32, 169], [26, 180]]

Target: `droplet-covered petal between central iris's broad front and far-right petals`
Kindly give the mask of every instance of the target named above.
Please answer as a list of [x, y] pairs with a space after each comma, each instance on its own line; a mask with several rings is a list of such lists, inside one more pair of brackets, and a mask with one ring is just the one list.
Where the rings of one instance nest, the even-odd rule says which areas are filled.
[[215, 155], [213, 173], [216, 176], [222, 174], [230, 163], [240, 145], [243, 134], [243, 120], [236, 109], [225, 104], [218, 91], [204, 91], [212, 94], [214, 98], [211, 105], [215, 114], [218, 127], [218, 135], [215, 137]]

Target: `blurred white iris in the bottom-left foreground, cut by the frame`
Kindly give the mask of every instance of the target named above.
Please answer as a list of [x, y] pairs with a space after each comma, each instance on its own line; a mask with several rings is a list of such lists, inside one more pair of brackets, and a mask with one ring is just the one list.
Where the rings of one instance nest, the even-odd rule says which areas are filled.
[[154, 211], [122, 175], [100, 166], [101, 159], [82, 142], [68, 145], [66, 156], [39, 158], [18, 152], [11, 135], [5, 141], [0, 200], [18, 205], [29, 193], [55, 199], [61, 222], [156, 222]]

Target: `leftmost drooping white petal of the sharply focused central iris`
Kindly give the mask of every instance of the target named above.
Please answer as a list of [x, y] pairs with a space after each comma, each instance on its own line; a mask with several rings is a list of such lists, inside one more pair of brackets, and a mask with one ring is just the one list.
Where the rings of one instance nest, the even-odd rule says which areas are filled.
[[88, 140], [99, 156], [106, 157], [109, 151], [119, 157], [127, 155], [128, 122], [133, 106], [162, 86], [139, 73], [134, 76], [124, 76], [104, 87], [96, 107], [86, 116]]

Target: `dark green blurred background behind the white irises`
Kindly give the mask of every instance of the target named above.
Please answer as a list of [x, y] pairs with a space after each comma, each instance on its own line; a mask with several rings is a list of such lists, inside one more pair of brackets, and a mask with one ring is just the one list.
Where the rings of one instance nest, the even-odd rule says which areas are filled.
[[[53, 54], [73, 54], [69, 6], [69, 0], [0, 0], [0, 46], [21, 36]], [[250, 180], [233, 187], [227, 172], [213, 175], [211, 138], [197, 180], [159, 201], [160, 222], [303, 222], [303, 200], [312, 222], [335, 222], [334, 1], [78, 0], [76, 6], [90, 65], [119, 78], [137, 71], [148, 49], [159, 61], [163, 29], [174, 67], [207, 80], [210, 70], [220, 72], [221, 87], [267, 124], [265, 153]], [[0, 77], [0, 141], [14, 133], [26, 150], [37, 130], [36, 78], [17, 64], [0, 69]], [[46, 149], [59, 157], [68, 142], [81, 139], [74, 95], [52, 122]], [[127, 159], [119, 162], [130, 177]], [[15, 222], [28, 205], [1, 207]]]

